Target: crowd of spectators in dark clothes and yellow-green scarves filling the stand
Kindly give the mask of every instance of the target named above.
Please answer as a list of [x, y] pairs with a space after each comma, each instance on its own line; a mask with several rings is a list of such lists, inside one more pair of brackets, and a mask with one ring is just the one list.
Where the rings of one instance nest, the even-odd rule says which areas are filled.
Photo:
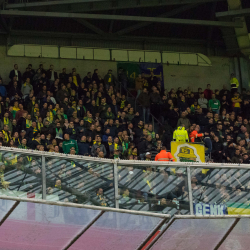
[[193, 92], [167, 90], [153, 72], [141, 74], [135, 79], [136, 110], [126, 89], [118, 87], [126, 82], [122, 70], [118, 77], [112, 70], [102, 77], [95, 69], [82, 78], [76, 68], [59, 74], [53, 65], [34, 70], [29, 64], [21, 73], [15, 64], [9, 78], [8, 84], [0, 80], [0, 145], [154, 160], [162, 146], [170, 150], [179, 128], [187, 131], [184, 141], [205, 143], [214, 162], [249, 163], [250, 91], [239, 94], [234, 75], [230, 90], [208, 84]]

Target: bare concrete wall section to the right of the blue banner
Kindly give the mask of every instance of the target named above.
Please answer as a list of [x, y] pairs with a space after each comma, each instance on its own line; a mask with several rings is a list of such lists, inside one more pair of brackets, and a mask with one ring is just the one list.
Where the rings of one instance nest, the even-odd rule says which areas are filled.
[[234, 72], [232, 60], [227, 57], [209, 57], [209, 59], [212, 63], [211, 67], [164, 64], [165, 88], [170, 90], [177, 87], [190, 87], [193, 91], [197, 91], [198, 87], [205, 89], [208, 83], [213, 90], [221, 89], [223, 84], [230, 87], [230, 73]]

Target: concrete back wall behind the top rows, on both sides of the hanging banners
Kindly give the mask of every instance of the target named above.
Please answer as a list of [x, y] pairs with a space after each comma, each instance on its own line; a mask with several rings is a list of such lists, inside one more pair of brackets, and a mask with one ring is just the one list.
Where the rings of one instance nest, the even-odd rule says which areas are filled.
[[[52, 58], [34, 58], [34, 57], [13, 57], [6, 56], [6, 47], [0, 46], [0, 74], [4, 83], [9, 82], [9, 72], [13, 69], [13, 65], [17, 63], [21, 73], [29, 63], [33, 68], [37, 69], [40, 63], [44, 64], [44, 68], [48, 69], [53, 64], [55, 70], [60, 73], [62, 68], [67, 68], [67, 72], [75, 67], [77, 72], [83, 78], [88, 71], [93, 72], [95, 68], [99, 69], [100, 75], [104, 76], [109, 69], [117, 74], [117, 63], [112, 61], [94, 61], [94, 60], [75, 60], [75, 59], [52, 59]], [[164, 81], [165, 87], [170, 90], [179, 86], [187, 88], [188, 86], [197, 91], [198, 87], [203, 89], [210, 83], [212, 89], [220, 89], [223, 84], [229, 85], [230, 73], [234, 72], [233, 60], [226, 57], [210, 57], [211, 67], [206, 66], [188, 66], [188, 65], [170, 65], [164, 64]]]

